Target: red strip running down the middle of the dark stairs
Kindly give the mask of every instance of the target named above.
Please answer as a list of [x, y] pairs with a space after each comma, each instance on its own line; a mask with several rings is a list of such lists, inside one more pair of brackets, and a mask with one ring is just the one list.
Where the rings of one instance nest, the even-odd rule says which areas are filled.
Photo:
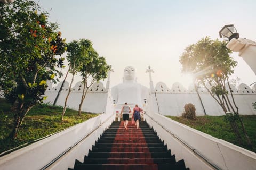
[[[123, 122], [120, 123], [112, 144], [108, 164], [124, 164], [124, 169], [129, 169], [130, 165], [151, 164], [150, 169], [157, 169], [151, 159], [151, 154], [147, 146], [141, 128], [137, 129], [131, 121], [128, 123], [128, 129], [124, 129]], [[125, 164], [127, 164], [125, 166]]]

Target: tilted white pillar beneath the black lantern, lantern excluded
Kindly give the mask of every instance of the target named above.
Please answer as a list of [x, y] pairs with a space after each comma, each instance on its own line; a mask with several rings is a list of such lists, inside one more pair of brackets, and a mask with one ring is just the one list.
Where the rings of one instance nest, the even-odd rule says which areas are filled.
[[256, 74], [256, 42], [244, 38], [233, 38], [227, 44], [227, 48], [234, 52], [239, 52], [238, 55], [244, 59]]

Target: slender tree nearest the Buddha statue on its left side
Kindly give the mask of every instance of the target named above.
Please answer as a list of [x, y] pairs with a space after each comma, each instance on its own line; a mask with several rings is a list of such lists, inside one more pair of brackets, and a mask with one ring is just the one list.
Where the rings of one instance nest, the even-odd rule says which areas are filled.
[[90, 48], [88, 56], [89, 62], [84, 64], [81, 69], [82, 82], [84, 83], [84, 86], [81, 103], [78, 108], [78, 115], [81, 115], [82, 105], [89, 88], [95, 81], [106, 79], [108, 71], [110, 70], [110, 66], [107, 65], [105, 58], [99, 57], [99, 54], [93, 48]]

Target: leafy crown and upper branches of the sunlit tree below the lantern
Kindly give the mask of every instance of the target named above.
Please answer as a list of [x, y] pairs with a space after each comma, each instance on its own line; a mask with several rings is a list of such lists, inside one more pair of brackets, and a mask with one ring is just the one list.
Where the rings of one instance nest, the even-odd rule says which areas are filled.
[[196, 83], [209, 90], [225, 113], [230, 110], [225, 106], [225, 102], [229, 100], [226, 95], [228, 93], [233, 95], [229, 85], [226, 87], [226, 84], [229, 84], [228, 79], [237, 65], [237, 62], [230, 57], [231, 50], [226, 45], [225, 41], [206, 37], [188, 46], [180, 56], [182, 72], [193, 73]]

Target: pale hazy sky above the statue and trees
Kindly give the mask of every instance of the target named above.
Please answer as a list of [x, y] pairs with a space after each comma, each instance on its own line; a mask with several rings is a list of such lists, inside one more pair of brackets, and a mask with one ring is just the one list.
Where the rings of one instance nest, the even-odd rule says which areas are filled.
[[[114, 69], [110, 86], [121, 83], [124, 68], [131, 65], [137, 82], [149, 87], [150, 65], [154, 86], [162, 81], [169, 88], [174, 82], [188, 87], [191, 79], [181, 73], [180, 55], [201, 38], [219, 38], [225, 24], [234, 24], [241, 38], [256, 41], [255, 0], [41, 0], [38, 4], [43, 11], [51, 10], [50, 21], [60, 25], [67, 42], [81, 38], [93, 42]], [[234, 77], [248, 85], [255, 82], [254, 72], [238, 53], [232, 56], [238, 61]]]

